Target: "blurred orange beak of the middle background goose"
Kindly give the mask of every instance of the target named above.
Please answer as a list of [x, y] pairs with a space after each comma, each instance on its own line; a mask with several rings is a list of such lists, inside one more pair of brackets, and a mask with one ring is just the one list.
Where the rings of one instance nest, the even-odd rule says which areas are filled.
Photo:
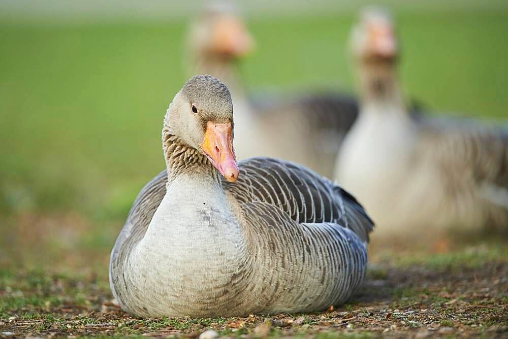
[[221, 54], [242, 57], [252, 51], [254, 41], [240, 20], [227, 17], [215, 26], [214, 45]]

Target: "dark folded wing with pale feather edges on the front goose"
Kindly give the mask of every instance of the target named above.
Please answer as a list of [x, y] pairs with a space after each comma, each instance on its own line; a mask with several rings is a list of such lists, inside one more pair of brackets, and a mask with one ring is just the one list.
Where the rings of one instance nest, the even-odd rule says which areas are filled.
[[240, 204], [264, 202], [300, 224], [337, 223], [364, 242], [373, 227], [351, 194], [292, 162], [262, 157], [241, 161], [238, 181], [224, 185]]

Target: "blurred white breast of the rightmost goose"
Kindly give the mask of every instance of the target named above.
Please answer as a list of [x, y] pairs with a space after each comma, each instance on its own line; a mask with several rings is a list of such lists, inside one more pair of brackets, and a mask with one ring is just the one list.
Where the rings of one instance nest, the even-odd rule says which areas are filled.
[[378, 231], [415, 221], [418, 211], [405, 204], [407, 195], [412, 195], [411, 200], [424, 199], [427, 185], [435, 182], [431, 172], [416, 169], [418, 140], [418, 129], [400, 112], [366, 108], [342, 144], [335, 179], [357, 196]]

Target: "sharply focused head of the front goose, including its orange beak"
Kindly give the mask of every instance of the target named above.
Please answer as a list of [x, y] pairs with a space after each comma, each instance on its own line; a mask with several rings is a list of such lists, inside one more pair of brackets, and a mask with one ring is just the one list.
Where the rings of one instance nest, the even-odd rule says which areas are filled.
[[184, 146], [204, 154], [227, 181], [238, 179], [233, 149], [233, 103], [223, 82], [210, 75], [190, 78], [170, 104], [164, 125], [165, 135], [176, 137]]

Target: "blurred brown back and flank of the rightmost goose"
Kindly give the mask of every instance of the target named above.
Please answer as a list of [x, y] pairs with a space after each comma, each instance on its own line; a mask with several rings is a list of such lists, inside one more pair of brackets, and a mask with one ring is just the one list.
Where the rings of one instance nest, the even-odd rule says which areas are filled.
[[508, 130], [450, 118], [429, 118], [420, 128], [417, 154], [440, 178], [446, 223], [506, 228]]

